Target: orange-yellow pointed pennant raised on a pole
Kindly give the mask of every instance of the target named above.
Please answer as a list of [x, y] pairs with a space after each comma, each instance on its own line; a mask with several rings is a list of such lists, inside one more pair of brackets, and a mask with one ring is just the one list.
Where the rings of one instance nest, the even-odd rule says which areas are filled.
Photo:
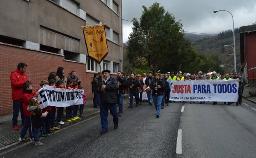
[[108, 55], [105, 25], [82, 26], [88, 56], [99, 63]]

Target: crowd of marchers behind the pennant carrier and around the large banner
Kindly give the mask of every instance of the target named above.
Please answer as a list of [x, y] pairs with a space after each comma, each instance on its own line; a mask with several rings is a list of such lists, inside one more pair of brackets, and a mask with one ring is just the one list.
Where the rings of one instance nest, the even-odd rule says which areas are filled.
[[[92, 79], [92, 92], [94, 93], [94, 106], [99, 108], [100, 106], [100, 97], [99, 93], [95, 89], [98, 80], [100, 79], [100, 73], [96, 73], [95, 77]], [[209, 73], [203, 73], [199, 71], [198, 73], [178, 73], [167, 72], [160, 73], [157, 72], [153, 74], [152, 72], [143, 73], [143, 76], [136, 73], [131, 73], [130, 76], [125, 75], [121, 71], [118, 71], [118, 77], [116, 78], [118, 82], [117, 93], [117, 103], [118, 103], [118, 116], [122, 117], [123, 115], [123, 98], [125, 92], [129, 92], [129, 107], [133, 108], [133, 99], [135, 98], [136, 106], [141, 105], [143, 100], [143, 92], [146, 92], [148, 97], [148, 104], [152, 105], [154, 103], [155, 109], [157, 111], [156, 117], [159, 118], [161, 114], [161, 109], [164, 109], [164, 105], [169, 105], [172, 101], [169, 101], [171, 88], [170, 85], [174, 80], [231, 80], [238, 78], [239, 88], [238, 88], [238, 101], [236, 105], [241, 105], [242, 103], [242, 92], [244, 87], [244, 80], [239, 73], [227, 73], [225, 76], [217, 76], [217, 72], [212, 71]], [[192, 102], [191, 102], [192, 103]], [[205, 102], [200, 102], [203, 104]], [[217, 102], [213, 102], [215, 105]], [[228, 105], [231, 105], [232, 102], [228, 102]], [[224, 102], [226, 104], [226, 102]]]

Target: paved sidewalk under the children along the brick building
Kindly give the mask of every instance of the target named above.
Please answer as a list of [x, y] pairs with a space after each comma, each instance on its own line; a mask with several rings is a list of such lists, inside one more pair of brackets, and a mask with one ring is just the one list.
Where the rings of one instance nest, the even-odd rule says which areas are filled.
[[[129, 94], [125, 94], [124, 97], [124, 105], [129, 104]], [[64, 112], [65, 113], [65, 112]], [[57, 114], [57, 112], [56, 112]], [[93, 98], [88, 98], [86, 99], [86, 104], [84, 106], [83, 109], [83, 114], [85, 114], [85, 118], [83, 119], [88, 119], [94, 115], [99, 114], [99, 109], [93, 108]], [[79, 110], [78, 110], [78, 115], [79, 115]], [[1, 148], [13, 144], [15, 142], [18, 142], [18, 138], [20, 137], [21, 134], [21, 115], [18, 115], [18, 126], [19, 126], [19, 130], [18, 131], [14, 131], [12, 130], [12, 114], [8, 114], [5, 116], [0, 116], [0, 150]], [[57, 116], [55, 117], [57, 118]], [[80, 119], [80, 120], [83, 120]], [[61, 125], [60, 128], [64, 128], [66, 126], [70, 126], [71, 124], [76, 124], [79, 121], [74, 121], [74, 122], [67, 122], [65, 118], [62, 118], [62, 121], [65, 122], [64, 125]], [[57, 122], [55, 121], [56, 125]], [[29, 133], [27, 131], [27, 134], [25, 135], [25, 138], [29, 138]]]

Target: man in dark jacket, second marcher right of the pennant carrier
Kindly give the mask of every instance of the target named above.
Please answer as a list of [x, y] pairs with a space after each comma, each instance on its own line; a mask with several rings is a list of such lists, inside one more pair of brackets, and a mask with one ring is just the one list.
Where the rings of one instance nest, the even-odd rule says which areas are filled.
[[140, 82], [135, 78], [134, 74], [131, 73], [131, 78], [127, 80], [129, 87], [129, 96], [130, 96], [130, 105], [128, 108], [132, 108], [133, 96], [135, 96], [136, 106], [138, 106], [139, 98], [138, 98], [138, 86]]

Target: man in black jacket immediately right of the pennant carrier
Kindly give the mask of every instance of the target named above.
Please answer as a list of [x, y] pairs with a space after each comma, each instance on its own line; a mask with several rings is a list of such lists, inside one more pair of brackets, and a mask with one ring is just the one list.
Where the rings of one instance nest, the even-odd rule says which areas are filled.
[[123, 114], [123, 99], [125, 95], [125, 87], [127, 87], [126, 78], [122, 77], [122, 72], [118, 71], [118, 78], [116, 78], [118, 82], [117, 96], [118, 96], [118, 116], [122, 116]]

